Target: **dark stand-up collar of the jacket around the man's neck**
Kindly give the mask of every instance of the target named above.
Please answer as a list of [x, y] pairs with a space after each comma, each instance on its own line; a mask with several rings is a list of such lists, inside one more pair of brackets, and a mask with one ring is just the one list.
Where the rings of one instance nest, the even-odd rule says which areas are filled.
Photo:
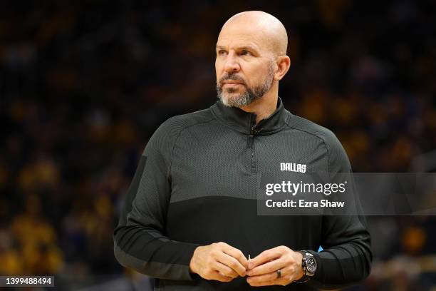
[[277, 101], [276, 111], [268, 118], [259, 121], [257, 125], [256, 113], [249, 113], [237, 107], [227, 107], [222, 101], [217, 101], [210, 108], [214, 116], [225, 126], [240, 133], [252, 135], [267, 135], [281, 131], [291, 118], [291, 113], [284, 108], [280, 97]]

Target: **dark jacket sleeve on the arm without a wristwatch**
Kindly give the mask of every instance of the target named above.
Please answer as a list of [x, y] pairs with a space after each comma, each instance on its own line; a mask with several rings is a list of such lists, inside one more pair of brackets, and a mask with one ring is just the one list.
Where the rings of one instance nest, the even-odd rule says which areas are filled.
[[165, 236], [177, 134], [166, 122], [147, 143], [114, 231], [114, 253], [121, 265], [150, 277], [193, 280], [189, 264], [198, 245]]

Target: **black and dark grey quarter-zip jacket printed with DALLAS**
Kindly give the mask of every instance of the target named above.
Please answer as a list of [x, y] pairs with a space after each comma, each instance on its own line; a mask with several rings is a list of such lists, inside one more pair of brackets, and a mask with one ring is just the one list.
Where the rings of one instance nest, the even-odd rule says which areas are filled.
[[[121, 265], [155, 277], [155, 290], [313, 290], [337, 288], [370, 272], [370, 235], [360, 216], [257, 215], [256, 181], [281, 162], [306, 171], [351, 171], [328, 129], [287, 111], [256, 125], [256, 115], [221, 101], [175, 116], [145, 147], [114, 231]], [[204, 280], [190, 273], [199, 245], [227, 242], [244, 255], [286, 245], [318, 262], [307, 283], [251, 287], [246, 278]], [[323, 251], [317, 252], [319, 246]]]

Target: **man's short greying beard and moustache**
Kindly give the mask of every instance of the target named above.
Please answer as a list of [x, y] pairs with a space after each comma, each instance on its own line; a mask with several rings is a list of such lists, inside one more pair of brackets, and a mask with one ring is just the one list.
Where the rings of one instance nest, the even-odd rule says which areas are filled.
[[228, 93], [236, 92], [236, 89], [234, 89], [234, 88], [227, 88], [226, 92], [223, 92], [223, 90], [222, 90], [222, 86], [224, 85], [223, 82], [228, 80], [228, 79], [235, 79], [235, 78], [232, 78], [232, 74], [226, 73], [219, 80], [219, 82], [217, 82], [218, 99], [221, 100], [222, 103], [228, 107], [240, 107], [240, 106], [249, 105], [253, 101], [262, 98], [265, 95], [265, 93], [268, 92], [269, 89], [271, 89], [273, 79], [274, 79], [273, 63], [271, 62], [271, 65], [269, 66], [268, 76], [266, 76], [264, 83], [262, 83], [260, 86], [254, 87], [254, 88], [250, 88], [248, 86], [245, 86], [245, 91], [243, 93], [236, 95], [236, 96], [229, 97], [229, 95], [227, 95]]

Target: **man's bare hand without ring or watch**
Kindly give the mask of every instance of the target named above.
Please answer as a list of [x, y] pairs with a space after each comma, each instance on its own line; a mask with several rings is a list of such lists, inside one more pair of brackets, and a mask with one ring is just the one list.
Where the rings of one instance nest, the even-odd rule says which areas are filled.
[[247, 267], [244, 254], [225, 242], [197, 247], [190, 262], [190, 272], [221, 282], [232, 281], [238, 275], [244, 277]]

